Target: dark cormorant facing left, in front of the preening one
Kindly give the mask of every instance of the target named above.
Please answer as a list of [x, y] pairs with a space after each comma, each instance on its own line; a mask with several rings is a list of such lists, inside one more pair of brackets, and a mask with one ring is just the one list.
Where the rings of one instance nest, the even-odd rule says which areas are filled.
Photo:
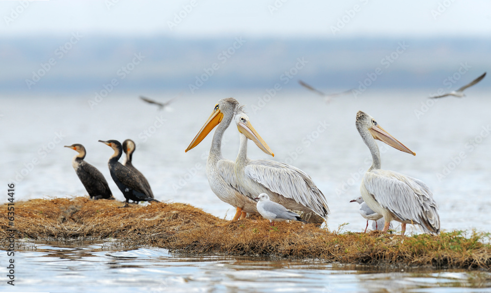
[[128, 201], [130, 199], [134, 201], [143, 200], [159, 202], [158, 200], [150, 197], [133, 170], [118, 162], [119, 158], [121, 158], [121, 155], [123, 154], [123, 147], [121, 146], [121, 143], [115, 140], [100, 140], [99, 142], [112, 147], [114, 150], [114, 154], [109, 158], [108, 166], [112, 179], [126, 198], [124, 207], [128, 206]]

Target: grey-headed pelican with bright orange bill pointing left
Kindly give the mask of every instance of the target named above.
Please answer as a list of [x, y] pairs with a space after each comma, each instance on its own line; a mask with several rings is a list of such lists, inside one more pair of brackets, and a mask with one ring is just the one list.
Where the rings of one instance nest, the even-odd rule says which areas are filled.
[[222, 201], [236, 208], [236, 213], [232, 220], [243, 219], [246, 213], [257, 214], [255, 196], [246, 194], [238, 184], [234, 173], [235, 162], [227, 160], [221, 155], [221, 139], [223, 132], [232, 122], [235, 108], [239, 102], [235, 98], [222, 98], [213, 109], [212, 114], [205, 122], [198, 134], [194, 137], [186, 152], [197, 146], [212, 129], [218, 125], [213, 135], [210, 154], [206, 161], [206, 176], [212, 191]]

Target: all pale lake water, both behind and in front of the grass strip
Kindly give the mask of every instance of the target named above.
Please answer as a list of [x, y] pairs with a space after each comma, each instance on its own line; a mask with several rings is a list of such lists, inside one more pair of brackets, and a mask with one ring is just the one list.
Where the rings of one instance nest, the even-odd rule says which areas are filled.
[[[422, 103], [428, 101], [425, 97], [431, 92], [364, 93], [356, 99], [334, 98], [327, 104], [308, 92], [285, 91], [263, 104], [258, 97], [265, 92], [231, 91], [184, 96], [172, 105], [172, 112], [158, 111], [138, 100], [137, 95], [116, 93], [93, 109], [87, 102], [91, 95], [1, 97], [0, 133], [4, 143], [0, 145], [0, 178], [5, 185], [9, 179], [18, 181], [16, 200], [84, 195], [71, 166], [76, 152], [63, 147], [80, 143], [87, 149], [85, 160], [103, 172], [116, 198], [123, 200], [107, 168], [112, 150], [97, 141], [131, 138], [137, 143], [134, 165], [145, 174], [157, 199], [191, 203], [230, 219], [234, 209], [213, 194], [204, 171], [211, 135], [188, 153], [184, 149], [216, 101], [233, 96], [248, 105], [252, 124], [275, 153], [274, 158], [268, 158], [249, 144], [249, 157], [274, 159], [306, 171], [327, 197], [332, 213], [329, 227], [337, 229], [349, 223], [345, 230], [361, 231], [365, 221], [358, 214], [357, 204], [349, 201], [359, 195], [361, 176], [371, 164], [370, 153], [355, 128], [355, 114], [363, 110], [416, 152], [414, 157], [379, 144], [383, 169], [399, 171], [429, 185], [439, 204], [443, 230], [491, 231], [491, 138], [487, 130], [491, 125], [491, 99], [474, 89], [467, 98], [441, 99], [425, 107]], [[149, 96], [164, 97], [162, 100], [171, 97]], [[415, 110], [423, 115], [416, 115]], [[232, 125], [224, 137], [223, 154], [234, 159], [237, 150], [238, 133]], [[2, 194], [1, 199], [4, 202], [6, 195]], [[412, 229], [416, 233], [419, 230]], [[19, 288], [53, 291], [87, 286], [95, 288], [91, 291], [102, 291], [105, 286], [118, 286], [130, 291], [148, 286], [155, 292], [164, 291], [162, 288], [330, 292], [329, 286], [333, 286], [332, 292], [366, 292], [388, 286], [394, 292], [427, 291], [424, 288], [430, 287], [435, 287], [430, 291], [438, 292], [443, 291], [436, 288], [439, 286], [445, 286], [444, 291], [470, 286], [474, 274], [479, 274], [374, 272], [311, 262], [184, 258], [162, 249], [111, 252], [100, 248], [99, 244], [75, 249], [39, 246], [36, 251], [22, 252], [18, 259], [24, 262], [19, 265], [24, 269], [18, 277], [27, 287]], [[134, 256], [122, 258], [127, 253]], [[74, 279], [80, 282], [74, 283]], [[36, 287], [41, 280], [47, 287]], [[455, 290], [462, 292], [462, 288]]]

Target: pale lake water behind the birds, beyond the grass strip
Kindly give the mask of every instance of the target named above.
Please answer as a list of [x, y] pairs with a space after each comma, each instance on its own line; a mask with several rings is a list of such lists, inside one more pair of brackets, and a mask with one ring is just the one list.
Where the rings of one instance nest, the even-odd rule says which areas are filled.
[[[87, 103], [91, 96], [1, 97], [0, 178], [21, 179], [17, 199], [85, 195], [71, 166], [76, 152], [63, 147], [81, 143], [87, 149], [85, 160], [103, 172], [115, 197], [123, 200], [107, 167], [112, 150], [97, 141], [132, 138], [137, 143], [133, 164], [147, 177], [157, 199], [191, 203], [231, 219], [234, 208], [213, 194], [204, 170], [212, 135], [189, 152], [184, 149], [216, 101], [235, 96], [247, 105], [252, 124], [275, 153], [268, 157], [249, 143], [249, 157], [286, 162], [305, 171], [326, 195], [329, 227], [349, 223], [344, 229], [361, 231], [366, 222], [357, 204], [349, 202], [359, 196], [361, 177], [371, 164], [370, 152], [355, 128], [355, 114], [361, 109], [416, 152], [411, 156], [379, 143], [383, 169], [421, 179], [433, 191], [442, 229], [491, 231], [491, 138], [484, 130], [491, 124], [491, 99], [476, 89], [469, 97], [440, 99], [422, 108], [429, 93], [367, 92], [325, 103], [309, 92], [280, 92], [263, 104], [258, 97], [264, 92], [231, 92], [178, 98], [173, 112], [158, 111], [137, 95], [115, 93], [93, 109]], [[415, 110], [426, 112], [417, 117]], [[57, 135], [62, 136], [59, 144]], [[226, 158], [235, 159], [238, 141], [232, 125], [222, 146]], [[32, 165], [32, 160], [38, 164]], [[439, 178], [437, 173], [446, 174], [445, 166], [453, 170]], [[5, 201], [6, 195], [0, 198]]]

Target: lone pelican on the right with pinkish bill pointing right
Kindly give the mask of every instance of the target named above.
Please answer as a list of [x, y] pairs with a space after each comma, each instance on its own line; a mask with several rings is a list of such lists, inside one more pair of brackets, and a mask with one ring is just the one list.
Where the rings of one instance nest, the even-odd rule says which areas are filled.
[[361, 197], [370, 209], [382, 215], [385, 220], [382, 232], [387, 232], [390, 221], [396, 220], [402, 223], [403, 235], [408, 223], [418, 224], [425, 233], [438, 234], [438, 205], [428, 186], [418, 179], [380, 169], [380, 151], [375, 140], [400, 151], [416, 154], [388, 134], [372, 116], [362, 111], [356, 114], [356, 128], [370, 149], [373, 160], [361, 181]]

